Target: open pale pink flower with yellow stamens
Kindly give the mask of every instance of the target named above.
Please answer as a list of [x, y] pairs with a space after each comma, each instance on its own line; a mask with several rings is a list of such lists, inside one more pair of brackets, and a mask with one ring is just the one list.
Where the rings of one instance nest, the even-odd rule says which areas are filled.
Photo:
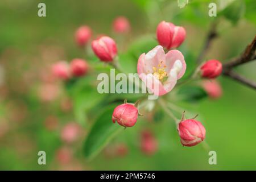
[[143, 53], [137, 65], [139, 77], [156, 96], [170, 92], [185, 70], [186, 63], [182, 53], [171, 50], [165, 54], [162, 46]]

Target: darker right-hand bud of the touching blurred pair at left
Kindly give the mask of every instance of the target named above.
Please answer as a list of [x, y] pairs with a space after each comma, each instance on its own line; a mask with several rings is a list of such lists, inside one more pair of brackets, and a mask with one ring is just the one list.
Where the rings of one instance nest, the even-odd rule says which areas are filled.
[[88, 71], [88, 63], [82, 59], [73, 59], [71, 61], [71, 73], [73, 76], [84, 76]]

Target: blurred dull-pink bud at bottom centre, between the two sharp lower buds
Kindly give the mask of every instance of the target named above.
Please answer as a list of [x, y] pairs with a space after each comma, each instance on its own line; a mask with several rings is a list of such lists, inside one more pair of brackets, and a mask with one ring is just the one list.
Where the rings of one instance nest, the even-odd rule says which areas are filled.
[[146, 155], [154, 155], [158, 150], [158, 142], [149, 130], [141, 134], [141, 150]]

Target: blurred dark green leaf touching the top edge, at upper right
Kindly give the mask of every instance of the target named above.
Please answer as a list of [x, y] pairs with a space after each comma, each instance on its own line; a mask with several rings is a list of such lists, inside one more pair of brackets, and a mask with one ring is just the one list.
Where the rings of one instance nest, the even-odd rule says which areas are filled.
[[243, 0], [236, 0], [225, 7], [220, 12], [226, 19], [230, 20], [233, 24], [236, 24], [245, 13], [245, 2]]

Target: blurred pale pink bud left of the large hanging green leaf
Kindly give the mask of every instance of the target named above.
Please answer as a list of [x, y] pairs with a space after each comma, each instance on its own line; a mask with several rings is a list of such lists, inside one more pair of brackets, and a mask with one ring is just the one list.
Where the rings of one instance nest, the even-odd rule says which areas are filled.
[[81, 134], [81, 128], [79, 124], [75, 122], [67, 123], [61, 130], [61, 140], [63, 142], [72, 143], [75, 142]]

